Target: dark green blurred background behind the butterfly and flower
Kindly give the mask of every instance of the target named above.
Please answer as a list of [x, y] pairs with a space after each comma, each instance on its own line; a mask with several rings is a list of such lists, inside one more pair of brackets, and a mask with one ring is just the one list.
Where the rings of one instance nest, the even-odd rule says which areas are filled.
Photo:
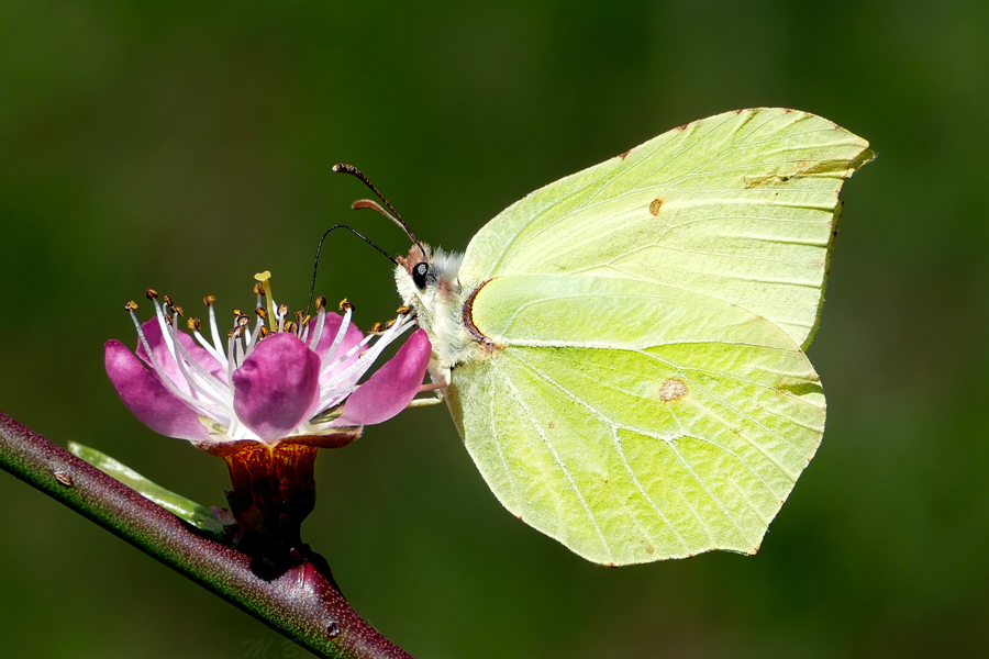
[[[620, 570], [507, 514], [444, 409], [324, 451], [304, 528], [423, 659], [926, 657], [989, 644], [989, 3], [0, 1], [0, 409], [204, 503], [222, 460], [154, 435], [103, 373], [147, 287], [304, 303], [329, 224], [403, 236], [364, 168], [463, 249], [543, 183], [688, 121], [786, 105], [873, 143], [810, 355], [824, 443], [756, 557]], [[335, 234], [320, 291], [399, 303]], [[199, 313], [199, 312], [195, 312]], [[0, 655], [302, 657], [0, 473]], [[267, 652], [267, 654], [265, 654]]]

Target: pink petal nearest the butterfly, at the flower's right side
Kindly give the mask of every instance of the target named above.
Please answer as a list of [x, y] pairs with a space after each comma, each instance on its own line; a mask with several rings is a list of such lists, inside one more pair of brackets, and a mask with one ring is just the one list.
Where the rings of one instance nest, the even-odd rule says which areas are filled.
[[416, 331], [390, 361], [351, 394], [343, 415], [333, 425], [371, 425], [404, 410], [419, 393], [432, 351], [426, 333]]

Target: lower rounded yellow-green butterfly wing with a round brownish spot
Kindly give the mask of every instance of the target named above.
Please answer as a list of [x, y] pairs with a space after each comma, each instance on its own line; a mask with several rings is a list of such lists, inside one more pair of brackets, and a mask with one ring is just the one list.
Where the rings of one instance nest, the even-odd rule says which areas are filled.
[[468, 312], [496, 347], [453, 370], [467, 449], [509, 511], [589, 560], [754, 552], [821, 440], [807, 357], [722, 300], [504, 276]]

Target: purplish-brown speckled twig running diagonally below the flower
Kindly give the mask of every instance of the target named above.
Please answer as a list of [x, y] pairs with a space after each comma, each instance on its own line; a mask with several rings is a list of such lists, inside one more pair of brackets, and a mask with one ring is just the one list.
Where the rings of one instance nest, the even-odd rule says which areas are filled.
[[2, 412], [0, 467], [321, 657], [412, 659], [357, 615], [319, 555], [266, 581], [244, 554]]

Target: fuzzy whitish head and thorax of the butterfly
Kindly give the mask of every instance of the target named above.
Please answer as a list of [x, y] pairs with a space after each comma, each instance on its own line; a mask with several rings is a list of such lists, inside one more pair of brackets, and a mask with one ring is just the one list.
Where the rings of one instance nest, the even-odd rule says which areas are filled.
[[[415, 310], [419, 326], [425, 330], [433, 344], [430, 371], [433, 378], [449, 382], [452, 369], [458, 364], [476, 359], [484, 350], [465, 327], [462, 310], [474, 292], [463, 286], [458, 277], [464, 255], [413, 246], [405, 258], [398, 257], [395, 281], [405, 305]], [[423, 287], [416, 286], [413, 269], [427, 264]], [[476, 288], [476, 287], [475, 287]]]

